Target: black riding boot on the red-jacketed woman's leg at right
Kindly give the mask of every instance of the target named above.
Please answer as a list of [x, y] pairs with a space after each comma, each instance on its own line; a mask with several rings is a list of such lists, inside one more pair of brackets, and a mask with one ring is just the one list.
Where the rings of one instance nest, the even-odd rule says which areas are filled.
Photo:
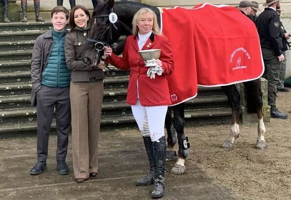
[[152, 191], [153, 198], [159, 198], [164, 195], [165, 183], [164, 174], [166, 169], [166, 139], [165, 136], [159, 139], [159, 142], [154, 141], [155, 152], [155, 182]]

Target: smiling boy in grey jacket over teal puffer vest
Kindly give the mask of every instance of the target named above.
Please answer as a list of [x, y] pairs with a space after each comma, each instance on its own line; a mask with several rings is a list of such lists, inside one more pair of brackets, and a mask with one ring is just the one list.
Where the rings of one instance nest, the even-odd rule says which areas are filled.
[[31, 103], [37, 109], [37, 163], [30, 170], [31, 175], [46, 169], [48, 135], [55, 109], [57, 124], [57, 169], [67, 175], [68, 134], [71, 124], [69, 100], [70, 71], [65, 60], [65, 37], [69, 13], [63, 6], [51, 11], [53, 28], [39, 36], [34, 44], [31, 59]]

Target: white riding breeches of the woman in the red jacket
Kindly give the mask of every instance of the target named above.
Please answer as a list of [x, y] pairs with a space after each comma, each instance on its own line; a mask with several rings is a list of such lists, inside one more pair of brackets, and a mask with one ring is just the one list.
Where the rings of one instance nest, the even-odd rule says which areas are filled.
[[165, 136], [167, 109], [167, 105], [142, 106], [137, 99], [136, 105], [132, 105], [132, 111], [142, 136], [150, 136], [152, 141], [158, 141]]

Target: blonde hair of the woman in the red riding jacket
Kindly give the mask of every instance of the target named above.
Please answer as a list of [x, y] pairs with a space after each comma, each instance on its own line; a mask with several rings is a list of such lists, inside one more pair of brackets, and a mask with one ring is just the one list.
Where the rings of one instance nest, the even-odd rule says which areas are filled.
[[133, 35], [134, 36], [137, 36], [138, 34], [138, 26], [137, 26], [137, 23], [138, 21], [141, 19], [141, 17], [144, 15], [144, 14], [150, 14], [153, 16], [153, 20], [154, 20], [154, 24], [153, 24], [153, 33], [156, 34], [156, 35], [160, 35], [160, 29], [158, 27], [158, 24], [157, 24], [157, 15], [156, 13], [154, 13], [154, 11], [152, 11], [151, 9], [149, 8], [140, 8], [135, 14], [134, 14], [134, 18], [133, 18]]

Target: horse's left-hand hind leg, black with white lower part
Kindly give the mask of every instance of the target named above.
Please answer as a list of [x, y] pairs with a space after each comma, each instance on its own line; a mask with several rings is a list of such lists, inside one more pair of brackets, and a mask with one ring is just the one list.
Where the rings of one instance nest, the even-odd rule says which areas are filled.
[[223, 147], [226, 149], [231, 149], [233, 147], [234, 140], [240, 136], [240, 93], [234, 84], [222, 86], [222, 89], [227, 96], [232, 112], [230, 136], [224, 141]]

